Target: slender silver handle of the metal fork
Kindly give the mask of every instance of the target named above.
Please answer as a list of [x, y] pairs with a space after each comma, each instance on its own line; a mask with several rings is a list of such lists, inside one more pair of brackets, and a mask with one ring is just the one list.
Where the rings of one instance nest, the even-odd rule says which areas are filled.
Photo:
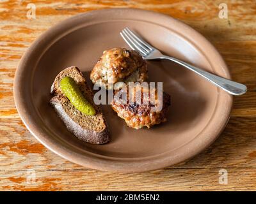
[[228, 93], [232, 95], [242, 95], [247, 91], [246, 85], [239, 84], [237, 82], [233, 82], [231, 80], [228, 80], [227, 78], [219, 77], [217, 75], [213, 75], [212, 73], [209, 73], [207, 71], [204, 71], [202, 69], [196, 68], [195, 66], [192, 66], [191, 64], [188, 64], [186, 62], [180, 61], [179, 59], [176, 59], [174, 57], [169, 57], [166, 55], [163, 55], [160, 57], [161, 59], [168, 59], [170, 61], [176, 62], [177, 64], [180, 64], [184, 66], [185, 68], [188, 68], [191, 71], [194, 71], [198, 75], [204, 77], [205, 79], [212, 82], [212, 84], [220, 87], [224, 91], [227, 91]]

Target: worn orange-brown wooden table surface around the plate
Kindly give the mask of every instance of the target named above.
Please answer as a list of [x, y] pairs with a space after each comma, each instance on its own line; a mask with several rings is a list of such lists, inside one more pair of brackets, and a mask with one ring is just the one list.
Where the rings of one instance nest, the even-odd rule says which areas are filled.
[[[72, 3], [70, 3], [72, 2]], [[29, 3], [36, 18], [28, 19]], [[219, 4], [228, 18], [219, 18]], [[90, 170], [41, 145], [25, 128], [13, 101], [17, 64], [31, 43], [52, 25], [77, 13], [103, 8], [141, 8], [165, 13], [202, 33], [248, 92], [234, 98], [227, 128], [207, 150], [186, 163], [148, 173]], [[252, 1], [0, 1], [0, 190], [255, 190], [256, 189], [256, 2]], [[221, 169], [227, 184], [220, 184]]]

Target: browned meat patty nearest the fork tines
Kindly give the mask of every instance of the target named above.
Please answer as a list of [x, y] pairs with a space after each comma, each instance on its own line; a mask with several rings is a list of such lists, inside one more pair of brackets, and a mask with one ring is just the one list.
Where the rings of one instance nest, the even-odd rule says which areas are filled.
[[93, 84], [112, 89], [116, 82], [145, 82], [147, 71], [147, 64], [138, 52], [112, 48], [103, 52], [90, 78]]

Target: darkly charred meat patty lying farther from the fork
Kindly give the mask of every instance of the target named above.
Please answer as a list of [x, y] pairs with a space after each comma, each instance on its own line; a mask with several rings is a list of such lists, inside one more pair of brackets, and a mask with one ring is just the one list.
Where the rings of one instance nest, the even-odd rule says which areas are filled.
[[[157, 98], [157, 89], [151, 91], [143, 87], [140, 91], [136, 91], [136, 87], [138, 88], [138, 86], [141, 87], [141, 85], [136, 85], [133, 89], [130, 88], [131, 91], [129, 91], [128, 86], [126, 86], [116, 92], [111, 103], [113, 110], [115, 110], [119, 117], [125, 120], [127, 126], [134, 129], [143, 127], [150, 128], [156, 124], [165, 122], [166, 114], [170, 106], [170, 95], [163, 92], [163, 108], [154, 112], [152, 111], [153, 108], [156, 108], [157, 105], [161, 103], [161, 98]], [[129, 94], [129, 92], [131, 94]], [[138, 95], [139, 92], [141, 92], [141, 94]], [[155, 93], [154, 98], [150, 98], [152, 93]], [[124, 98], [124, 96], [126, 96], [126, 98]], [[143, 99], [148, 101], [148, 104], [143, 103]], [[139, 101], [141, 101], [141, 103], [139, 103]]]

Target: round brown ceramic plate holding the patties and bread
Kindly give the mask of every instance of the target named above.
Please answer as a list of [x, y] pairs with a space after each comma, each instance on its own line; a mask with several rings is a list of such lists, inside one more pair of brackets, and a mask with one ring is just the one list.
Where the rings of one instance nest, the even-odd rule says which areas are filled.
[[92, 145], [69, 133], [48, 102], [54, 77], [77, 66], [88, 78], [102, 51], [127, 47], [119, 32], [129, 27], [159, 50], [230, 78], [209, 41], [188, 25], [152, 11], [99, 10], [61, 22], [42, 34], [20, 61], [14, 96], [26, 127], [46, 147], [74, 163], [108, 171], [141, 172], [164, 168], [209, 146], [228, 121], [232, 96], [170, 61], [148, 62], [151, 82], [163, 82], [171, 95], [168, 122], [152, 129], [127, 128], [103, 106], [111, 142]]

